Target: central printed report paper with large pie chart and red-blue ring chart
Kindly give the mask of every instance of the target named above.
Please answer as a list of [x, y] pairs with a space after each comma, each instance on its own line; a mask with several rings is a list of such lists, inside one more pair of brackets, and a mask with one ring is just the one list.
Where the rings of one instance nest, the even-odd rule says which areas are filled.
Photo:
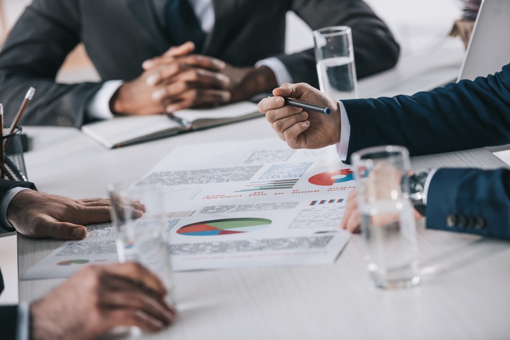
[[279, 139], [185, 145], [137, 185], [161, 182], [174, 270], [333, 263], [355, 182], [335, 148]]

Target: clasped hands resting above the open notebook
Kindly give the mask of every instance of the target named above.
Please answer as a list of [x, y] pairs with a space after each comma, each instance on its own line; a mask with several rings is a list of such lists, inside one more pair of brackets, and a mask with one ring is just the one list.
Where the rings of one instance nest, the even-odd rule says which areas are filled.
[[277, 86], [268, 67], [234, 67], [222, 60], [192, 54], [186, 42], [143, 62], [143, 73], [124, 83], [110, 100], [118, 114], [154, 115], [214, 107], [250, 98]]

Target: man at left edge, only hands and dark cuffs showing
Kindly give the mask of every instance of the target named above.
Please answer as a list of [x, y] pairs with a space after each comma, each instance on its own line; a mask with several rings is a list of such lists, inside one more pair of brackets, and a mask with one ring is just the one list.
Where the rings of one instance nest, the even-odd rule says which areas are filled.
[[[84, 224], [110, 220], [108, 200], [49, 195], [9, 180], [0, 180], [0, 210], [0, 233], [33, 238], [79, 240]], [[157, 331], [175, 318], [166, 294], [157, 275], [138, 264], [89, 266], [31, 305], [0, 306], [0, 334], [3, 340], [94, 339], [115, 326]]]

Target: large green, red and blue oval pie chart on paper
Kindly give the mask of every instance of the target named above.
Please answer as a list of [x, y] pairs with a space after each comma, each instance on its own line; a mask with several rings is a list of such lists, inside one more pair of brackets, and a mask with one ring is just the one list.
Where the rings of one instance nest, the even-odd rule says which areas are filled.
[[236, 234], [267, 228], [271, 222], [265, 218], [228, 218], [188, 224], [180, 227], [177, 233], [189, 236]]

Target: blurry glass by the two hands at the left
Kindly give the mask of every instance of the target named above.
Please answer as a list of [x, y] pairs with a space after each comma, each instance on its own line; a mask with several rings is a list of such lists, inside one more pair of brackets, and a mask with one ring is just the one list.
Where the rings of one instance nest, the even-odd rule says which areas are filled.
[[168, 232], [164, 225], [161, 185], [108, 186], [112, 220], [117, 227], [117, 254], [120, 262], [137, 262], [163, 281], [168, 303], [174, 304], [174, 279], [170, 260]]

